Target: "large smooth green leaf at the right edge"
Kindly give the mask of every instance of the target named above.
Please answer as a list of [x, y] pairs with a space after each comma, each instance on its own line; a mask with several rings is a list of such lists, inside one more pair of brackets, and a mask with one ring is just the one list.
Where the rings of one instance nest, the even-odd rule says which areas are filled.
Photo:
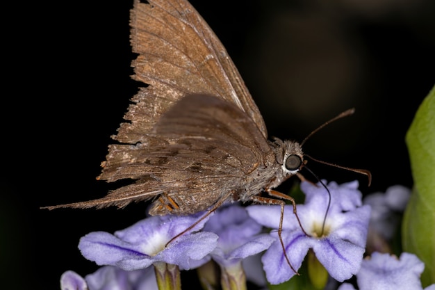
[[414, 181], [402, 224], [404, 251], [425, 262], [422, 284], [435, 283], [435, 87], [418, 108], [406, 136]]

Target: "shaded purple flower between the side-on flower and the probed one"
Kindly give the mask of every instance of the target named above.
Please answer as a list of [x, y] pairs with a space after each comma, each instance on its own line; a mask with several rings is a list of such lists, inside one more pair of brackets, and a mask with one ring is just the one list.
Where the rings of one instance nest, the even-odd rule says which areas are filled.
[[231, 266], [246, 257], [263, 252], [274, 242], [274, 238], [261, 234], [262, 228], [248, 216], [244, 207], [222, 207], [204, 227], [205, 231], [219, 236], [211, 257], [221, 266]]

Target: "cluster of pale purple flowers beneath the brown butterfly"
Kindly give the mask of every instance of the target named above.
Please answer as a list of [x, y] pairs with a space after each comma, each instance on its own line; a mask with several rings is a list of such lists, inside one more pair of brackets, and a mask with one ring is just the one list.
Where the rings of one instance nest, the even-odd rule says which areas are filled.
[[[270, 284], [290, 280], [308, 253], [338, 282], [356, 275], [361, 290], [393, 289], [382, 285], [404, 279], [413, 287], [406, 289], [422, 289], [418, 276], [424, 265], [415, 256], [404, 254], [400, 262], [390, 262], [389, 255], [373, 253], [371, 259], [363, 259], [370, 205], [363, 204], [358, 182], [323, 184], [327, 182], [302, 182], [305, 202], [297, 206], [300, 225], [293, 207], [286, 205], [282, 229], [278, 228], [280, 206], [226, 204], [212, 214], [154, 216], [114, 234], [91, 232], [81, 238], [79, 249], [103, 267], [85, 278], [67, 271], [61, 288], [181, 289], [180, 269], [204, 269], [211, 260], [220, 268], [222, 289], [246, 289], [246, 280], [265, 287], [265, 279]], [[259, 257], [262, 269], [258, 262], [249, 262]], [[202, 283], [216, 281], [203, 277]], [[325, 287], [327, 280], [317, 283]], [[348, 283], [340, 286], [347, 289], [354, 288]]]

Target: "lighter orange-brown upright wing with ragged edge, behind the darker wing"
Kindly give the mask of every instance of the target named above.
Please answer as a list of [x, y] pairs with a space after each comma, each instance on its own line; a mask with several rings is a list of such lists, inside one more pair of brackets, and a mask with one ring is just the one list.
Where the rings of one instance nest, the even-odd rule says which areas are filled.
[[115, 140], [147, 142], [165, 111], [190, 94], [215, 95], [236, 104], [263, 136], [263, 118], [226, 49], [188, 1], [134, 1], [131, 45], [139, 54], [133, 79], [147, 83], [133, 97]]

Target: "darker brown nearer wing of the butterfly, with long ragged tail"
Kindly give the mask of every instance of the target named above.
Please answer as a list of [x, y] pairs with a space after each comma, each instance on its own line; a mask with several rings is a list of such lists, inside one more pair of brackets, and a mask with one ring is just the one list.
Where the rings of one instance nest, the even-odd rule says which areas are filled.
[[136, 183], [99, 200], [66, 206], [124, 207], [158, 196], [151, 215], [192, 214], [229, 194], [237, 199], [247, 191], [246, 177], [274, 163], [274, 153], [252, 119], [235, 104], [209, 95], [181, 99], [150, 135], [155, 138], [151, 146], [110, 145], [104, 164], [104, 179]]

